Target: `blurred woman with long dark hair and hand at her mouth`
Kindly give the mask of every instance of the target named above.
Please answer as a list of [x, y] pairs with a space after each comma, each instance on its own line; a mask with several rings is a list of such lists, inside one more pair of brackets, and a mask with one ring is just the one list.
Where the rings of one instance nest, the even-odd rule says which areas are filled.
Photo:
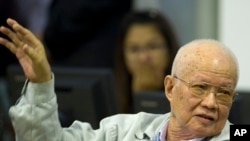
[[115, 52], [119, 112], [132, 112], [132, 94], [163, 91], [179, 42], [158, 11], [133, 11], [122, 22]]

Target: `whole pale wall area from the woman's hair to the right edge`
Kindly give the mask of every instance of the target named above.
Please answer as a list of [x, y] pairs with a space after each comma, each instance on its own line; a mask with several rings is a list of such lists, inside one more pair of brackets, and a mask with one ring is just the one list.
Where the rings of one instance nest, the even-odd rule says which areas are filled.
[[146, 8], [170, 19], [181, 44], [195, 38], [226, 44], [239, 61], [237, 89], [250, 91], [250, 0], [134, 0], [134, 9]]

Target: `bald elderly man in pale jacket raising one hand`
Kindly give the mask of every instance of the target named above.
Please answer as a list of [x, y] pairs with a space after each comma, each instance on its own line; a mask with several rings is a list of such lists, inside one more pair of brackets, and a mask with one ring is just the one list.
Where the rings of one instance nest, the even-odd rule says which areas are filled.
[[16, 55], [29, 80], [21, 100], [9, 111], [18, 140], [229, 140], [227, 118], [235, 96], [238, 64], [221, 43], [200, 39], [180, 48], [172, 74], [164, 80], [170, 113], [118, 114], [103, 119], [97, 130], [79, 121], [62, 128], [57, 115], [55, 78], [44, 46], [15, 20], [7, 19], [7, 23], [11, 29], [1, 27], [0, 31], [10, 40], [0, 38], [0, 44]]

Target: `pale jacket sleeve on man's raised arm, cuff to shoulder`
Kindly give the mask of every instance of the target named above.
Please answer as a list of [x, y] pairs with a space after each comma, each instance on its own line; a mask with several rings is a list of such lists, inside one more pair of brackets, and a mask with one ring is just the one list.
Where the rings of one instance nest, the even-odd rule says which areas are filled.
[[62, 128], [57, 110], [53, 79], [46, 83], [27, 82], [22, 96], [9, 110], [17, 141], [104, 141], [116, 140], [116, 127], [93, 130], [90, 124], [75, 121]]

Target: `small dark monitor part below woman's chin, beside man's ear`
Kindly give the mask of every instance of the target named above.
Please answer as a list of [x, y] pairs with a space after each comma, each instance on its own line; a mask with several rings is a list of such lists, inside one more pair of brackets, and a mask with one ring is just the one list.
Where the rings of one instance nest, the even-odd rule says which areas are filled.
[[144, 91], [133, 94], [133, 111], [164, 114], [170, 112], [170, 103], [164, 91]]

